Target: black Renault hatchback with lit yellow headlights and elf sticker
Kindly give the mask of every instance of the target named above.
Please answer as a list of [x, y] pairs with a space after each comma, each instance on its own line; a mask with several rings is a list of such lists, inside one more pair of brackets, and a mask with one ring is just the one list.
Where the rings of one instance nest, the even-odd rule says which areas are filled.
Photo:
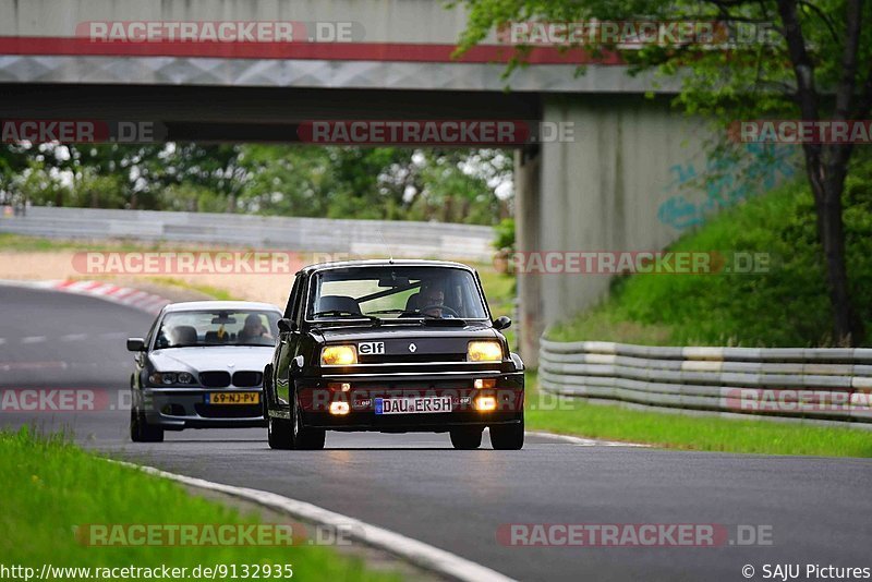
[[296, 274], [264, 369], [275, 449], [320, 449], [325, 431], [448, 432], [459, 449], [524, 442], [523, 362], [492, 320], [474, 269], [354, 260]]

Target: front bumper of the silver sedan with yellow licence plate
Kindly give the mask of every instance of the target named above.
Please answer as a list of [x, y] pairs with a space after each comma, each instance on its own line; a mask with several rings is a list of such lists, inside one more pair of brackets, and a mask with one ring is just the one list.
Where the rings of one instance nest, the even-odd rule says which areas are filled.
[[[256, 393], [257, 403], [207, 403], [206, 395], [215, 392]], [[143, 388], [134, 393], [134, 405], [145, 412], [148, 424], [166, 431], [246, 428], [266, 426], [263, 398], [261, 389]]]

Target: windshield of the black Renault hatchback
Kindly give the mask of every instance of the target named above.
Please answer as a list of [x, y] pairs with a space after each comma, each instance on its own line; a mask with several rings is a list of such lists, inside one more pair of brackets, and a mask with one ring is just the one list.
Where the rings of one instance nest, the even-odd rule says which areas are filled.
[[308, 319], [484, 319], [473, 275], [453, 267], [348, 267], [313, 277]]

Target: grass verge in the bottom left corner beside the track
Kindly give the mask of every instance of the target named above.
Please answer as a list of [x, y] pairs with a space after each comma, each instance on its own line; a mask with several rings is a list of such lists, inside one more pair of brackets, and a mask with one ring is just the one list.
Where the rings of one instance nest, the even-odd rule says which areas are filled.
[[76, 525], [250, 524], [258, 523], [259, 518], [190, 495], [171, 481], [109, 463], [62, 435], [35, 436], [27, 427], [0, 432], [0, 487], [4, 496], [0, 516], [3, 561], [34, 567], [37, 572], [44, 563], [92, 568], [167, 565], [187, 567], [189, 572], [198, 565], [237, 565], [240, 571], [242, 565], [292, 565], [294, 578], [399, 579], [367, 569], [360, 558], [312, 545], [84, 545], [74, 533]]

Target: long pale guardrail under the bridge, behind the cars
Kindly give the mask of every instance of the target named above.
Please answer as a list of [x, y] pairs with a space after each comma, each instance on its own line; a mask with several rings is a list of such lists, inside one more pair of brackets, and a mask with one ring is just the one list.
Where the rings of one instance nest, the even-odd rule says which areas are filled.
[[46, 206], [29, 207], [25, 216], [0, 213], [0, 232], [485, 262], [494, 240], [491, 227], [474, 225]]

